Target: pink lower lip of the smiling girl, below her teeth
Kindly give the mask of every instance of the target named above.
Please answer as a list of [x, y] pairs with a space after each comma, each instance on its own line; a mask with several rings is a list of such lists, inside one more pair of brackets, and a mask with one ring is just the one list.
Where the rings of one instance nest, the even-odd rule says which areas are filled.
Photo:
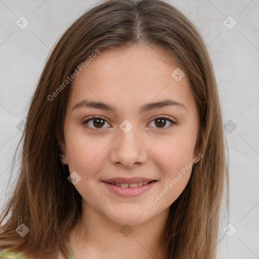
[[149, 184], [142, 185], [136, 188], [122, 188], [116, 185], [108, 184], [107, 182], [103, 182], [107, 188], [112, 191], [113, 193], [116, 193], [117, 195], [120, 195], [122, 197], [134, 197], [141, 195], [142, 193], [150, 190], [153, 185], [156, 183], [156, 181], [152, 181]]

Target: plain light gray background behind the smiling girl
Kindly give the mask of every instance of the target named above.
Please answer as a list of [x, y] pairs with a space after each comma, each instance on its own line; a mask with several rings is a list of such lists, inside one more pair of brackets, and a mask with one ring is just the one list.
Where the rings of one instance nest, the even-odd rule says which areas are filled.
[[[0, 209], [9, 193], [6, 186], [15, 177], [9, 179], [21, 136], [17, 124], [26, 115], [49, 52], [76, 18], [102, 2], [0, 0]], [[259, 258], [259, 1], [166, 2], [200, 31], [219, 84], [227, 123], [232, 224], [224, 232], [228, 222], [222, 215], [219, 258]], [[16, 25], [21, 16], [29, 21], [23, 30]]]

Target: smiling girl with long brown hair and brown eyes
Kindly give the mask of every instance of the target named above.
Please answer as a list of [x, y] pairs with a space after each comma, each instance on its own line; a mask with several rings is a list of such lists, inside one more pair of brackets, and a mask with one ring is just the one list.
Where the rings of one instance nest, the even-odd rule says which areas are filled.
[[206, 46], [176, 8], [111, 0], [77, 19], [20, 143], [1, 258], [217, 258], [222, 113]]

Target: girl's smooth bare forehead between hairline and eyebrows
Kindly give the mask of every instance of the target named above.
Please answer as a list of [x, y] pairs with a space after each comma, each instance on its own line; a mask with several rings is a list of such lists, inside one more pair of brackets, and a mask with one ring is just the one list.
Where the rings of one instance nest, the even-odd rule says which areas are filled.
[[188, 77], [177, 81], [171, 76], [176, 69], [178, 64], [162, 49], [133, 46], [100, 51], [73, 79], [70, 100], [72, 104], [83, 98], [110, 100], [118, 105], [121, 101], [132, 107], [171, 97], [189, 106], [193, 100]]

